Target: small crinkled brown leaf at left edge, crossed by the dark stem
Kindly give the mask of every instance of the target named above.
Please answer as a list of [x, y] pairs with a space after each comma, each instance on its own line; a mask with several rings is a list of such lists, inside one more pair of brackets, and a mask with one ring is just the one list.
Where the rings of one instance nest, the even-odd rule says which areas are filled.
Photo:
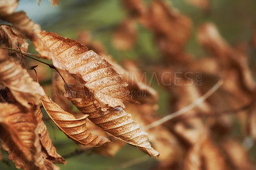
[[[0, 38], [3, 41], [5, 47], [20, 50], [20, 52], [26, 53], [28, 50], [28, 43], [24, 36], [18, 31], [8, 26], [0, 27]], [[9, 56], [19, 61], [20, 65], [25, 65], [25, 58], [17, 52], [10, 53]]]

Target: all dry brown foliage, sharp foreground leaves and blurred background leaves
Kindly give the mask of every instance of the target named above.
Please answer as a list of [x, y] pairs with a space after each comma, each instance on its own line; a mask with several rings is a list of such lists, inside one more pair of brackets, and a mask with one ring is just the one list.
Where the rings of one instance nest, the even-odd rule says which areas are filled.
[[[211, 8], [208, 0], [187, 2], [204, 12]], [[156, 157], [155, 169], [253, 169], [255, 164], [232, 129], [238, 123], [243, 138], [256, 139], [255, 74], [247, 51], [249, 45], [255, 48], [255, 34], [250, 42], [233, 47], [214, 24], [202, 24], [196, 37], [208, 56], [195, 59], [186, 51], [193, 30], [189, 17], [161, 0], [148, 5], [142, 0], [121, 3], [127, 17], [113, 31], [113, 46], [122, 51], [136, 47], [138, 24], [152, 33], [161, 58], [153, 70], [157, 85], [172, 96], [170, 112], [186, 109], [220, 79], [223, 86], [184, 114], [156, 126], [166, 117], [157, 114], [159, 94], [141, 65], [129, 60], [124, 60], [124, 67], [119, 65], [88, 31], [80, 31], [77, 40], [41, 31], [25, 12], [15, 12], [17, 0], [1, 1], [0, 18], [11, 24], [0, 27], [1, 149], [17, 168], [59, 169], [55, 164], [66, 164], [52, 144], [42, 104], [81, 150], [114, 156], [127, 143]], [[29, 75], [28, 70], [35, 68], [25, 68], [26, 56], [31, 58], [25, 38], [39, 53], [34, 56], [52, 61], [50, 65], [39, 59], [56, 70], [51, 78], [53, 100]], [[198, 80], [195, 74], [177, 72], [201, 72], [204, 81], [193, 84]]]

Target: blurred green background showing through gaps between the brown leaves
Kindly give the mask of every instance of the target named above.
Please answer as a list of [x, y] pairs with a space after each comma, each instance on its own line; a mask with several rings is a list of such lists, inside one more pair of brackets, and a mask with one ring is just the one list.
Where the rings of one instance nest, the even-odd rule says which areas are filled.
[[[146, 2], [150, 3], [150, 1]], [[68, 38], [76, 38], [77, 32], [84, 29], [90, 31], [92, 40], [102, 42], [108, 53], [119, 63], [122, 63], [123, 59], [136, 60], [143, 70], [143, 65], [154, 65], [161, 59], [161, 54], [154, 47], [152, 34], [142, 26], [139, 26], [138, 40], [131, 50], [120, 51], [113, 47], [111, 44], [113, 29], [127, 15], [118, 0], [60, 0], [58, 6], [52, 6], [51, 2], [47, 0], [42, 0], [40, 5], [36, 0], [21, 0], [19, 3], [17, 11], [24, 10], [28, 13], [30, 19], [40, 24], [42, 30]], [[189, 5], [185, 0], [172, 0], [168, 3], [172, 3], [174, 8], [193, 20], [193, 35], [187, 45], [187, 50], [196, 58], [205, 55], [195, 38], [198, 26], [204, 22], [214, 22], [221, 35], [230, 44], [248, 42], [252, 38], [256, 24], [255, 0], [212, 0], [211, 13], [207, 14]], [[251, 53], [251, 56], [255, 55], [255, 51], [252, 50]], [[150, 74], [150, 70], [145, 71]], [[169, 109], [168, 95], [161, 87], [154, 86], [154, 88], [159, 91], [158, 112], [163, 116]], [[78, 148], [57, 127], [55, 127], [56, 139], [54, 139], [53, 128], [49, 123], [46, 124], [52, 142], [60, 155], [67, 155]], [[135, 147], [125, 145], [115, 157], [102, 157], [86, 152], [76, 157], [67, 158], [67, 165], [60, 165], [60, 167], [61, 169], [110, 169], [136, 158], [142, 158], [144, 161], [124, 169], [154, 169], [157, 164], [157, 160], [154, 158], [145, 156]], [[4, 160], [7, 160], [6, 153], [4, 153]], [[2, 161], [0, 169], [16, 169], [13, 162], [9, 162], [10, 166], [7, 166]], [[120, 169], [120, 167], [116, 167], [116, 169]]]

